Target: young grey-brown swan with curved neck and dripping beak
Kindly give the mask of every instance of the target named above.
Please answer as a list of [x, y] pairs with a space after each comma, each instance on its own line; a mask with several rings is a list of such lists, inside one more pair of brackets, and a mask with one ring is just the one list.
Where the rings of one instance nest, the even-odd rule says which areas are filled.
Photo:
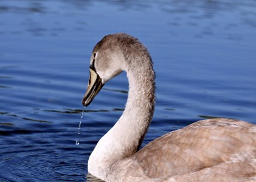
[[202, 120], [157, 138], [139, 150], [155, 103], [148, 50], [125, 33], [105, 36], [90, 61], [88, 106], [122, 71], [129, 81], [122, 116], [91, 153], [88, 172], [105, 181], [256, 181], [256, 126], [238, 120]]

